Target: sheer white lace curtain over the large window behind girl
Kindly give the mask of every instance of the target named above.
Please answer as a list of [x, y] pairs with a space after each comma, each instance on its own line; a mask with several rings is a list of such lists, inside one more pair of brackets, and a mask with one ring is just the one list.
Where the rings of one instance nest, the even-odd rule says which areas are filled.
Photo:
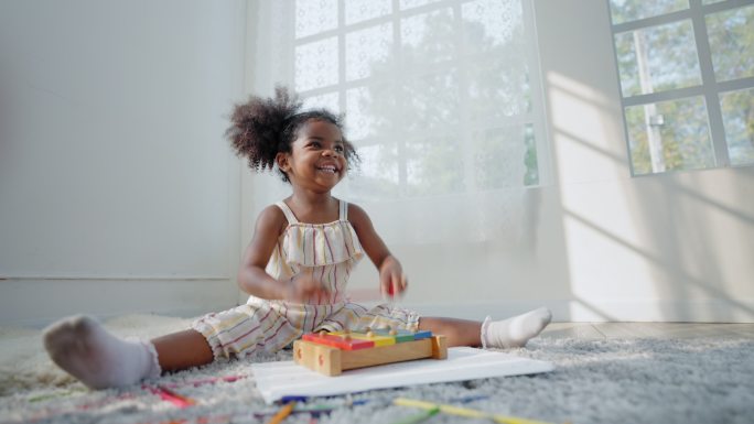
[[[251, 2], [251, 90], [346, 116], [336, 188], [390, 246], [530, 242], [549, 159], [530, 0]], [[287, 196], [252, 180], [254, 211]]]

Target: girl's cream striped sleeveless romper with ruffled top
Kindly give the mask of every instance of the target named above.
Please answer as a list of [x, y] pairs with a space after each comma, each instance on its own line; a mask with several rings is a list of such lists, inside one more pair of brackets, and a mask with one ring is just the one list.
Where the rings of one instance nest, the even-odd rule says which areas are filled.
[[192, 328], [207, 339], [215, 359], [274, 352], [304, 333], [322, 329], [417, 328], [416, 312], [388, 304], [368, 309], [345, 295], [348, 276], [364, 256], [348, 222], [347, 203], [340, 200], [338, 220], [330, 224], [299, 222], [288, 205], [276, 205], [286, 215], [288, 227], [278, 238], [267, 273], [281, 282], [300, 273], [312, 274], [327, 287], [330, 298], [294, 304], [250, 296], [246, 305], [198, 318]]

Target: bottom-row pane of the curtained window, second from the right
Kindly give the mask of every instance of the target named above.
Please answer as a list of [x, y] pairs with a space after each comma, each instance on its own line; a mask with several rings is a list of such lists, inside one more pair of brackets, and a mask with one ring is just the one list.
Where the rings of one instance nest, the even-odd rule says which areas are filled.
[[409, 196], [462, 193], [463, 155], [455, 137], [434, 137], [407, 143], [406, 177]]

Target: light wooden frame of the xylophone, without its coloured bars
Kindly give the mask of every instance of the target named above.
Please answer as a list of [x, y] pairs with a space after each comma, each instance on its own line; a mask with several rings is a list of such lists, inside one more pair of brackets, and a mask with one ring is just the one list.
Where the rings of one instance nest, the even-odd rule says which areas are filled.
[[[324, 338], [325, 336], [320, 337]], [[312, 337], [309, 338], [312, 339]], [[445, 336], [431, 336], [413, 341], [401, 341], [356, 350], [342, 349], [306, 339], [293, 343], [293, 360], [295, 363], [330, 377], [340, 376], [345, 370], [356, 368], [424, 358], [448, 358]]]

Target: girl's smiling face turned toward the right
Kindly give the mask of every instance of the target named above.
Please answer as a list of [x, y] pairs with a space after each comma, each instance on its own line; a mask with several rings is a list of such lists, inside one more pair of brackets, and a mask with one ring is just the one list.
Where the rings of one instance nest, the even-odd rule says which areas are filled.
[[279, 153], [277, 160], [291, 184], [317, 192], [332, 189], [348, 168], [341, 129], [325, 120], [304, 123], [291, 152]]

